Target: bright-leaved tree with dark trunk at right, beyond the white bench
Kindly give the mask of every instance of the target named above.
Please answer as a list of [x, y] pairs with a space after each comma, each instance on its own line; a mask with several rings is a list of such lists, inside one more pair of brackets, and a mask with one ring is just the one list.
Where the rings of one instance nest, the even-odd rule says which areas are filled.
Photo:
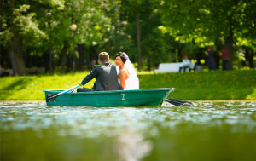
[[237, 42], [238, 33], [255, 33], [253, 24], [256, 13], [247, 11], [255, 8], [255, 3], [251, 1], [170, 0], [160, 1], [159, 4], [163, 23], [177, 40], [203, 45], [223, 39], [224, 45], [231, 53], [230, 69], [235, 55], [233, 45]]

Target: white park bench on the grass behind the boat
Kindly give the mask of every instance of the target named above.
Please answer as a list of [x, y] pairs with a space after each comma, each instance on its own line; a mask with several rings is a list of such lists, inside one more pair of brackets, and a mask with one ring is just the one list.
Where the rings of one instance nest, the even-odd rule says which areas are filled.
[[[160, 63], [158, 69], [154, 69], [154, 73], [159, 72], [179, 72], [179, 67], [183, 66], [182, 62], [177, 63]], [[195, 62], [191, 62], [190, 69], [195, 69]], [[188, 68], [186, 70], [189, 70]]]

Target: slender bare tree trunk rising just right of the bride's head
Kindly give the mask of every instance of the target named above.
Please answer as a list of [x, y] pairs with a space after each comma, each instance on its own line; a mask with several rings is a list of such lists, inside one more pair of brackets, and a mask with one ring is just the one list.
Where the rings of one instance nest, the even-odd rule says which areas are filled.
[[136, 32], [137, 32], [137, 51], [138, 51], [138, 59], [137, 59], [137, 70], [141, 71], [142, 68], [142, 48], [141, 48], [141, 30], [140, 30], [140, 18], [139, 18], [139, 10], [136, 9]]

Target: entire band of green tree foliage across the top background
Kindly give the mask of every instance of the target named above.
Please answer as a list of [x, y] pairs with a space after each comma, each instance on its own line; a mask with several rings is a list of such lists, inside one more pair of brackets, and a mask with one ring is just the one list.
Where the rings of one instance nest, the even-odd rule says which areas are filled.
[[[218, 52], [226, 46], [230, 69], [238, 57], [253, 67], [254, 1], [3, 0], [0, 7], [1, 50], [9, 55], [1, 54], [1, 64], [11, 62], [16, 75], [26, 75], [27, 57], [48, 61], [49, 50], [61, 71], [73, 51], [88, 65], [100, 51], [112, 57], [124, 51], [139, 69], [152, 70], [183, 55], [196, 58], [207, 46]], [[78, 26], [74, 36], [72, 24]]]

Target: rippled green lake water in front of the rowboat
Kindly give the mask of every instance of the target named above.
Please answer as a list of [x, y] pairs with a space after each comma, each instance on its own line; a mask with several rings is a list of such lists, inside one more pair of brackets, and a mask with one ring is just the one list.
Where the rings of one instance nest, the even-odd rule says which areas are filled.
[[0, 160], [256, 160], [256, 102], [47, 107], [0, 102]]

